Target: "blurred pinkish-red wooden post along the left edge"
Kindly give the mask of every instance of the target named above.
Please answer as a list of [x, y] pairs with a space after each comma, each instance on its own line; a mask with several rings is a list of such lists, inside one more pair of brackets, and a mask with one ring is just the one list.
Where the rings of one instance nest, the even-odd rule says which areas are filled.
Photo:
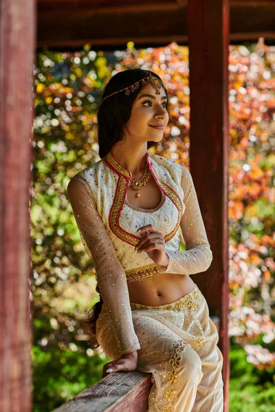
[[31, 411], [34, 0], [0, 0], [0, 411]]

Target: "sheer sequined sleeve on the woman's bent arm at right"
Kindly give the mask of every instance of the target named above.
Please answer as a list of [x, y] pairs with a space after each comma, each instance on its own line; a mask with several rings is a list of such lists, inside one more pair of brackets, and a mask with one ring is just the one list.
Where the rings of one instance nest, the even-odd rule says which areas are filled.
[[212, 262], [212, 251], [203, 224], [201, 210], [190, 172], [181, 166], [181, 187], [184, 190], [186, 209], [181, 216], [181, 231], [186, 243], [186, 251], [169, 251], [166, 249], [168, 266], [157, 268], [162, 273], [179, 273], [193, 275], [206, 271]]

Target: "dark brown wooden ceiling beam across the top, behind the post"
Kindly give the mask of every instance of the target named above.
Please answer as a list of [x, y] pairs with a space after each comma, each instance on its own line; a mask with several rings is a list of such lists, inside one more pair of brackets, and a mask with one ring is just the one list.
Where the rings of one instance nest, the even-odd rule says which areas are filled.
[[[275, 45], [275, 1], [230, 0], [230, 43], [259, 37]], [[38, 49], [125, 48], [129, 41], [187, 45], [187, 0], [37, 0]]]

